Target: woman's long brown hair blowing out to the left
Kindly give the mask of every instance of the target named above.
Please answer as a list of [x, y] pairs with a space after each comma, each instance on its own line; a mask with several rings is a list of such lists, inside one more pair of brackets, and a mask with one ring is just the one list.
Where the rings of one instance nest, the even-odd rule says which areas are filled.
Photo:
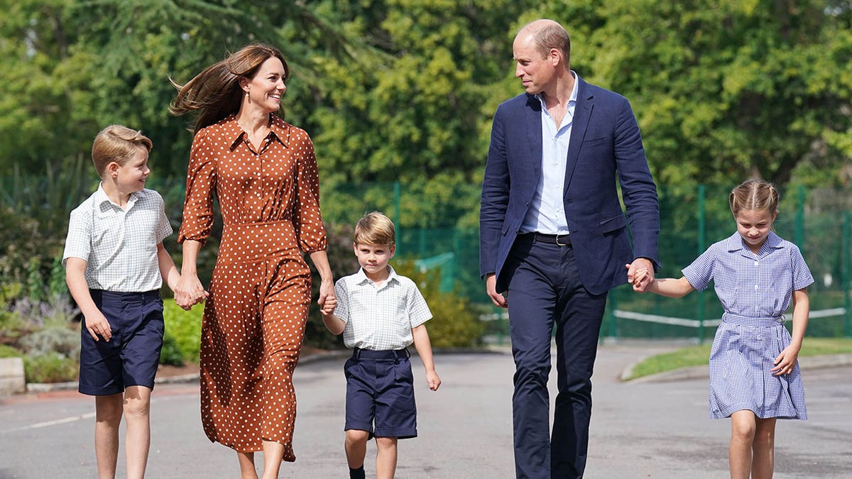
[[197, 132], [232, 113], [239, 112], [243, 97], [239, 78], [254, 78], [262, 63], [273, 56], [284, 65], [282, 79], [286, 82], [290, 77], [290, 68], [284, 55], [279, 49], [262, 43], [246, 45], [228, 55], [225, 60], [204, 68], [186, 84], [178, 84], [169, 78], [171, 84], [178, 89], [175, 100], [169, 105], [169, 113], [182, 115], [199, 111], [194, 129]]

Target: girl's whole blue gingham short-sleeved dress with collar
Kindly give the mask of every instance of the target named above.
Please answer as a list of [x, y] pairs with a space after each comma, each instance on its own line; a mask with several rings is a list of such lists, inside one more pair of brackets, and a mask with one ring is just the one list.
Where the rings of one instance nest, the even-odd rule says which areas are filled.
[[754, 254], [734, 233], [683, 276], [699, 291], [714, 280], [724, 309], [710, 353], [710, 417], [747, 409], [758, 418], [807, 419], [798, 363], [789, 374], [771, 371], [791, 342], [784, 312], [792, 293], [814, 282], [797, 246], [770, 232]]

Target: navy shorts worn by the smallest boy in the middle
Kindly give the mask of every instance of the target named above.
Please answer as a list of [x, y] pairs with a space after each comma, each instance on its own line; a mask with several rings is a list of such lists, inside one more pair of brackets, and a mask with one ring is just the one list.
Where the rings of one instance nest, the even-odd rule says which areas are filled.
[[346, 425], [370, 438], [417, 437], [412, 361], [406, 349], [354, 349], [346, 375]]

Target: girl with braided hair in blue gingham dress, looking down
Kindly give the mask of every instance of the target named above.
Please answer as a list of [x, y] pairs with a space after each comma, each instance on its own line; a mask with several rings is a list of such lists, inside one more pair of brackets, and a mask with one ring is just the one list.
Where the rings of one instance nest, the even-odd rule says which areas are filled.
[[[797, 356], [814, 279], [797, 246], [773, 232], [773, 185], [744, 182], [729, 203], [737, 232], [711, 245], [681, 279], [651, 280], [647, 291], [682, 297], [715, 281], [724, 314], [710, 353], [710, 417], [731, 418], [732, 478], [771, 477], [775, 420], [808, 418]], [[639, 270], [634, 290], [647, 278]], [[784, 327], [791, 298], [792, 338]]]

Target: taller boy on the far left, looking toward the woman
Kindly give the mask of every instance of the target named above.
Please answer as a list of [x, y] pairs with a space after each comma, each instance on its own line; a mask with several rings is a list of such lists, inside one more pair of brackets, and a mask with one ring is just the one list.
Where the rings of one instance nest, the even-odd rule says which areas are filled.
[[127, 476], [145, 476], [154, 374], [163, 346], [163, 278], [180, 274], [163, 247], [172, 232], [163, 198], [145, 189], [152, 142], [140, 131], [107, 126], [92, 161], [101, 185], [71, 212], [66, 282], [83, 313], [80, 385], [95, 396], [98, 476], [115, 476], [118, 425], [127, 422]]

